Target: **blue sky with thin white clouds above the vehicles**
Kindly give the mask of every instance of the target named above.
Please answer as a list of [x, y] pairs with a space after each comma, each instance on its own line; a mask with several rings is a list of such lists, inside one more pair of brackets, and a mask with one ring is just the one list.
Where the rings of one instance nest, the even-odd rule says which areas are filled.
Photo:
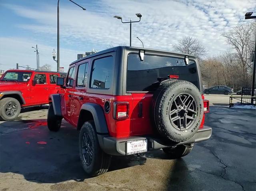
[[[60, 67], [77, 59], [77, 54], [110, 45], [129, 45], [132, 24], [132, 46], [172, 51], [172, 45], [183, 36], [197, 37], [210, 55], [229, 49], [221, 33], [252, 20], [246, 12], [256, 12], [256, 0], [60, 0]], [[57, 49], [57, 0], [0, 0], [0, 69], [29, 65], [36, 68], [38, 45], [40, 66], [50, 64]]]

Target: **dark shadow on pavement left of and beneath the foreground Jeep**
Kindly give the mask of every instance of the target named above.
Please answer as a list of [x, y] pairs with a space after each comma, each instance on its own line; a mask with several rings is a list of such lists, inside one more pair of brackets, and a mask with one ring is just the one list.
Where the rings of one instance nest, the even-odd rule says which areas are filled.
[[[50, 132], [46, 119], [4, 122], [0, 124], [0, 172], [18, 173], [39, 183], [84, 181], [88, 176], [80, 164], [78, 134], [66, 122], [59, 132]], [[141, 156], [113, 156], [109, 171], [145, 162]]]

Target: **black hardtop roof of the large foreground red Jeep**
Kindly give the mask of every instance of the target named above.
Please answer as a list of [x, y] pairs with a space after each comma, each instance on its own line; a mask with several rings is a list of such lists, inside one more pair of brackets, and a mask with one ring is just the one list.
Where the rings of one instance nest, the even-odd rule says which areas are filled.
[[183, 54], [183, 53], [176, 53], [176, 52], [172, 52], [172, 51], [165, 51], [165, 50], [158, 50], [158, 49], [150, 49], [150, 48], [142, 48], [142, 47], [130, 47], [130, 46], [116, 46], [116, 47], [112, 47], [112, 48], [109, 48], [109, 49], [105, 49], [103, 51], [100, 51], [100, 52], [97, 52], [97, 53], [94, 53], [94, 54], [91, 54], [91, 55], [88, 55], [86, 57], [82, 57], [74, 62], [72, 62], [70, 65], [73, 65], [74, 63], [77, 63], [78, 61], [82, 61], [82, 60], [85, 60], [85, 59], [88, 59], [88, 58], [92, 58], [92, 57], [95, 57], [95, 56], [98, 56], [98, 55], [102, 55], [102, 54], [105, 54], [105, 53], [109, 53], [109, 52], [114, 52], [114, 51], [117, 51], [118, 48], [121, 48], [121, 49], [124, 49], [124, 50], [145, 50], [145, 51], [155, 51], [156, 53], [171, 53], [171, 54], [176, 54], [178, 57], [180, 56], [189, 56], [190, 58], [192, 59], [196, 59], [195, 56], [193, 55], [188, 55], [188, 54]]

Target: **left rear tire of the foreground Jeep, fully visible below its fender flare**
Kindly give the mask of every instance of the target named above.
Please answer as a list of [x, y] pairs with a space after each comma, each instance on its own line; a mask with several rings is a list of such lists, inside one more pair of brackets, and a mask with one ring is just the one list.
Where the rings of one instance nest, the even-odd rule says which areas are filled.
[[[84, 139], [85, 136], [86, 139]], [[88, 145], [86, 144], [85, 140], [88, 140]], [[95, 177], [108, 171], [111, 162], [111, 156], [104, 153], [100, 148], [94, 121], [85, 122], [80, 130], [79, 154], [82, 167], [86, 174], [88, 174], [90, 177]], [[87, 161], [86, 157], [88, 157]]]

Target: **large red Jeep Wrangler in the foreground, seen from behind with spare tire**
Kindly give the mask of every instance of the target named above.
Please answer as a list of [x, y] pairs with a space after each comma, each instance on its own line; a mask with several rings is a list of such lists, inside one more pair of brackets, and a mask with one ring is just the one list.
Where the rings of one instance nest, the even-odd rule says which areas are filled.
[[136, 47], [114, 47], [70, 64], [66, 82], [50, 96], [48, 128], [62, 118], [80, 130], [79, 151], [90, 176], [108, 170], [112, 155], [162, 149], [187, 155], [210, 138], [196, 57]]

